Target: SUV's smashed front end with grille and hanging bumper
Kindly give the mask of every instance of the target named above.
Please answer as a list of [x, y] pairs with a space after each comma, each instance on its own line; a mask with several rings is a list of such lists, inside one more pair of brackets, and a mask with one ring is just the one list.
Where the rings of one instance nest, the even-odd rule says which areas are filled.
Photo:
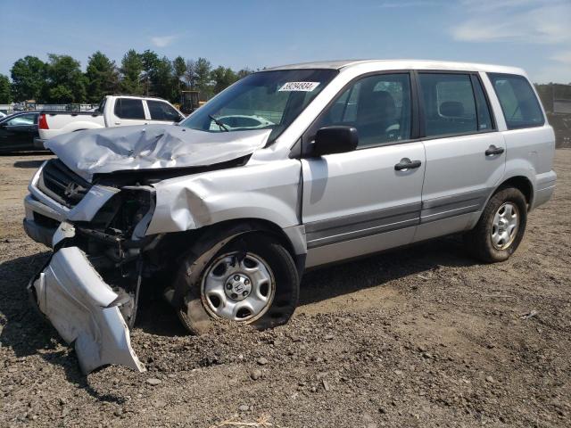
[[153, 214], [153, 188], [86, 183], [51, 160], [29, 189], [25, 227], [43, 225], [37, 206], [54, 211], [46, 212], [54, 224], [41, 241], [54, 256], [29, 285], [37, 306], [74, 344], [84, 373], [107, 364], [143, 370], [130, 347], [128, 326], [137, 314], [148, 261], [144, 252], [157, 238], [144, 236]]

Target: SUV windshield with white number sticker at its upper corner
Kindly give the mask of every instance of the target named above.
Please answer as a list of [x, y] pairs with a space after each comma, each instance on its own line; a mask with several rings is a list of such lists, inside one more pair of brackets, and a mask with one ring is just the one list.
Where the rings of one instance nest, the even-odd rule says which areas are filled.
[[336, 74], [336, 70], [254, 73], [222, 91], [179, 125], [207, 132], [272, 129], [269, 141], [273, 141]]

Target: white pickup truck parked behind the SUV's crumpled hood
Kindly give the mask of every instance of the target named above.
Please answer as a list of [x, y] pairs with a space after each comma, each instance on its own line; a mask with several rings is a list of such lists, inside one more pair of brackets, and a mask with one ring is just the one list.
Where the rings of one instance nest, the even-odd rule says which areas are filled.
[[54, 136], [83, 129], [125, 127], [128, 125], [173, 124], [185, 116], [161, 98], [107, 95], [95, 111], [42, 111], [39, 115], [37, 148]]

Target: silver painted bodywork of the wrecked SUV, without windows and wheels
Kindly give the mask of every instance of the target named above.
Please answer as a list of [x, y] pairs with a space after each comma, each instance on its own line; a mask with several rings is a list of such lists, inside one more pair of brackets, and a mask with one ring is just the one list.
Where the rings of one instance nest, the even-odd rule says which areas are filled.
[[[207, 166], [244, 157], [247, 161], [239, 167], [153, 183], [153, 207], [137, 224], [133, 239], [257, 219], [284, 232], [294, 255], [304, 258], [305, 268], [469, 230], [498, 186], [513, 177], [530, 184], [530, 210], [550, 199], [557, 177], [552, 170], [553, 130], [547, 122], [508, 130], [486, 74], [525, 77], [523, 70], [413, 60], [311, 62], [272, 70], [320, 68], [338, 74], [268, 146], [268, 130], [209, 134], [165, 126], [87, 131], [60, 136], [46, 146], [87, 180], [114, 171]], [[495, 130], [419, 138], [320, 158], [291, 156], [344, 86], [387, 70], [478, 73]], [[491, 145], [504, 152], [485, 156]], [[420, 168], [395, 170], [404, 158], [421, 161]], [[29, 184], [24, 226], [33, 239], [59, 247], [73, 234], [74, 221], [91, 221], [119, 190], [93, 185], [81, 202], [68, 208], [38, 187], [42, 168]], [[40, 226], [36, 216], [63, 223], [56, 233], [55, 228]], [[107, 363], [143, 369], [130, 349], [120, 311], [112, 305], [117, 294], [78, 248], [57, 251], [32, 286], [40, 309], [67, 342], [75, 341], [85, 372]]]

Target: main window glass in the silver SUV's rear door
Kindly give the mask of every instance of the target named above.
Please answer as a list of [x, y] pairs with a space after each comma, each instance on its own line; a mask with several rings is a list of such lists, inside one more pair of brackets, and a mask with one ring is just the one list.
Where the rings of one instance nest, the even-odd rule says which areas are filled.
[[426, 136], [478, 131], [476, 98], [469, 74], [420, 73]]

